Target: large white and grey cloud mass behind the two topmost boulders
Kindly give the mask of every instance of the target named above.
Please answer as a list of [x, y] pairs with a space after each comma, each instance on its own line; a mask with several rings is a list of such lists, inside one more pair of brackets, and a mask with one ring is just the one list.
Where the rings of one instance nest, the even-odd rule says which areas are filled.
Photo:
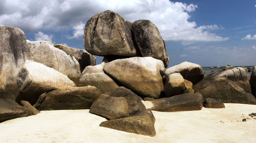
[[190, 13], [196, 11], [197, 5], [168, 0], [5, 0], [1, 1], [0, 7], [0, 24], [17, 26], [25, 32], [73, 30], [73, 36], [68, 37], [70, 39], [81, 37], [81, 24], [90, 17], [112, 10], [132, 22], [138, 19], [153, 21], [164, 40], [228, 40], [211, 33], [220, 29], [215, 24], [198, 26], [195, 21], [189, 21]]

